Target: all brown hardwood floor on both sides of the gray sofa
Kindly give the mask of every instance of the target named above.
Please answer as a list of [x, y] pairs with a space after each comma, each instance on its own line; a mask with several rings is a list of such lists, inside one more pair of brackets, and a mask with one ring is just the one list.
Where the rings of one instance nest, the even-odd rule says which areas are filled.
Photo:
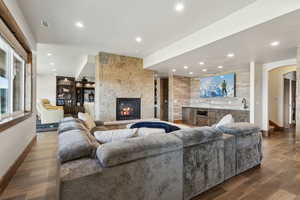
[[[36, 145], [1, 200], [58, 199], [55, 133], [38, 135]], [[300, 200], [300, 144], [293, 131], [264, 138], [264, 160], [252, 169], [193, 200]]]

